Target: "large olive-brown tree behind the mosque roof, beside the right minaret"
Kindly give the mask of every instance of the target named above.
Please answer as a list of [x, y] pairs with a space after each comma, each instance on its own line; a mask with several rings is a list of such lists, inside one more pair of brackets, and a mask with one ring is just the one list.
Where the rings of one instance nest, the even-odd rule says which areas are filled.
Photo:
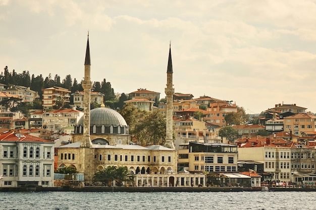
[[142, 146], [164, 145], [166, 143], [166, 117], [160, 111], [147, 112], [136, 124], [134, 134]]

